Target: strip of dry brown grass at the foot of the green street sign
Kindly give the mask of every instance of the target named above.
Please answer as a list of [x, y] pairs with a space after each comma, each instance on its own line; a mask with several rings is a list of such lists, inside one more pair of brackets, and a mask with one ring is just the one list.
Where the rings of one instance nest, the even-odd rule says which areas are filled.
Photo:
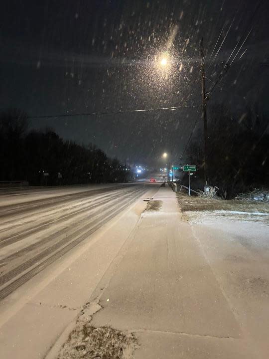
[[242, 212], [269, 213], [269, 203], [263, 201], [225, 200], [188, 196], [176, 193], [179, 207], [186, 211], [232, 210]]

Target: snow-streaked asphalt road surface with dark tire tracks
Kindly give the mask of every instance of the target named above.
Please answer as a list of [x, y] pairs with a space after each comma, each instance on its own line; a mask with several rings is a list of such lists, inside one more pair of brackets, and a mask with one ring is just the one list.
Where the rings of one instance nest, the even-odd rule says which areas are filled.
[[[0, 300], [124, 211], [147, 189], [146, 184], [81, 188], [69, 194], [50, 188], [52, 194], [46, 198], [0, 206]], [[1, 189], [0, 199], [41, 191], [48, 189]]]

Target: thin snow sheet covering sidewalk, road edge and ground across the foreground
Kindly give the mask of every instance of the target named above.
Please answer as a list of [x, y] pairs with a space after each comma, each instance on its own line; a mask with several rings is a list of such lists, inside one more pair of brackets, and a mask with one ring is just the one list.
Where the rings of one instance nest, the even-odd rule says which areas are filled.
[[[190, 211], [190, 200], [180, 213], [170, 188], [144, 194], [138, 208], [85, 240], [79, 255], [47, 268], [48, 284], [38, 273], [12, 293], [2, 310], [13, 301], [17, 308], [18, 298], [20, 307], [2, 312], [4, 357], [44, 357], [65, 331], [47, 359], [64, 343], [59, 358], [125, 358], [135, 338], [135, 359], [268, 358], [268, 213], [215, 202], [211, 211]], [[195, 208], [207, 203], [194, 201]], [[93, 302], [97, 311], [89, 313]], [[77, 326], [68, 337], [70, 323]]]

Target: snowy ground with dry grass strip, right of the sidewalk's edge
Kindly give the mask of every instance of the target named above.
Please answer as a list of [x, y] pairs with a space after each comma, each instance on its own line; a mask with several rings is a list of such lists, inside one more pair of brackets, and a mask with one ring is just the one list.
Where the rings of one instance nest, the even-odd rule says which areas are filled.
[[178, 203], [248, 344], [256, 347], [250, 357], [268, 358], [268, 204], [187, 196]]

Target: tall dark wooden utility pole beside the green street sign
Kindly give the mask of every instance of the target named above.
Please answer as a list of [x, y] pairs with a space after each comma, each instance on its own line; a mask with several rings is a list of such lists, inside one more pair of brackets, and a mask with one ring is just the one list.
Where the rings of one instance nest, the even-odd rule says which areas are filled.
[[201, 80], [202, 80], [202, 107], [203, 107], [203, 121], [204, 121], [204, 191], [208, 192], [208, 175], [207, 175], [207, 114], [206, 114], [206, 87], [205, 87], [205, 54], [204, 54], [204, 38], [202, 37], [200, 43], [201, 51]]

